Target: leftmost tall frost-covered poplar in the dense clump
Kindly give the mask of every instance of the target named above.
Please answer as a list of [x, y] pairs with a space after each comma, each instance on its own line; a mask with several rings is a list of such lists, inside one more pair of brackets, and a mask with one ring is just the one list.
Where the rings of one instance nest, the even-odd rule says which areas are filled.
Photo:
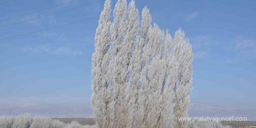
[[[109, 112], [109, 91], [108, 91], [108, 64], [110, 61], [106, 58], [108, 47], [110, 45], [109, 27], [110, 27], [110, 14], [111, 1], [107, 0], [104, 4], [104, 9], [99, 18], [99, 25], [95, 33], [95, 53], [92, 56], [92, 89], [93, 94], [91, 97], [92, 109], [95, 113], [97, 125], [107, 127], [110, 122]], [[97, 114], [96, 114], [97, 113]]]

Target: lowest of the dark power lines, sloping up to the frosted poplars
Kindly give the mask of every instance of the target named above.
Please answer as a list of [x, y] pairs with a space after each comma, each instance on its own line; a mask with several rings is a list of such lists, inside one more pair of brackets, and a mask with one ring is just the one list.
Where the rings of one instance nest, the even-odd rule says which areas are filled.
[[[152, 2], [150, 2], [150, 3], [152, 3]], [[150, 4], [150, 3], [147, 3], [147, 4]], [[144, 4], [144, 6], [147, 5], [147, 4]], [[128, 9], [125, 9], [125, 10], [128, 10]], [[121, 10], [121, 11], [123, 11], [123, 10]], [[117, 12], [120, 12], [120, 11], [117, 11]], [[106, 14], [106, 15], [110, 15], [110, 14], [111, 13]], [[101, 16], [105, 16], [105, 15], [101, 15]], [[95, 18], [98, 18], [98, 17], [100, 17], [100, 16], [92, 17], [92, 18], [88, 18], [88, 19], [84, 19], [84, 20], [80, 20], [80, 21], [77, 21], [77, 22], [72, 22], [72, 23], [69, 23], [69, 24], [63, 24], [63, 25], [52, 27], [52, 28], [49, 28], [49, 29], [54, 29], [54, 28], [58, 28], [58, 27], [62, 27], [62, 26], [70, 25], [70, 24], [75, 24], [75, 23], [78, 23], [78, 22], [83, 22], [83, 21], [86, 21], [86, 20], [89, 20], [89, 19], [95, 19]], [[37, 32], [41, 32], [41, 31], [45, 31], [45, 30], [49, 30], [49, 29], [43, 29], [43, 30], [39, 30], [39, 31], [34, 31], [34, 32], [31, 32], [31, 33], [25, 33], [25, 34], [22, 34], [22, 35], [28, 35], [28, 34], [37, 33]], [[6, 39], [10, 39], [10, 38], [15, 38], [15, 37], [19, 37], [19, 36], [22, 36], [22, 35], [16, 35], [16, 36], [13, 36], [13, 37], [3, 38], [3, 39], [0, 39], [0, 40], [6, 40]]]

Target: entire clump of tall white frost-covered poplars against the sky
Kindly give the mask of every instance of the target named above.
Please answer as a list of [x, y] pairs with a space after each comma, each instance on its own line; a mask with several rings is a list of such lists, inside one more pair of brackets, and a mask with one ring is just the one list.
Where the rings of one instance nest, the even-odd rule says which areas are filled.
[[[147, 7], [106, 0], [92, 56], [92, 109], [99, 128], [186, 127], [193, 54], [181, 29], [151, 25]], [[174, 115], [172, 114], [174, 112]], [[174, 116], [174, 118], [173, 118]]]

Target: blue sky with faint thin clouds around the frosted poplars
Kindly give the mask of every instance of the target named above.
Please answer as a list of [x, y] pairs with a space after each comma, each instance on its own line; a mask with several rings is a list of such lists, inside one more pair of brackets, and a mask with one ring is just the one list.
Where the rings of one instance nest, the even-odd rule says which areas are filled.
[[[0, 4], [0, 20], [70, 1]], [[2, 21], [0, 27], [93, 2], [79, 0]], [[117, 0], [112, 2], [114, 7]], [[91, 56], [98, 18], [1, 39], [99, 16], [103, 4], [0, 28], [0, 112], [1, 107], [9, 111], [6, 106], [22, 105], [22, 111], [11, 109], [29, 112], [37, 104], [85, 104], [90, 108]], [[168, 28], [172, 35], [181, 27], [190, 39], [194, 52], [191, 103], [256, 111], [256, 1], [137, 0], [136, 5], [140, 14], [143, 6], [150, 8], [152, 23]]]

